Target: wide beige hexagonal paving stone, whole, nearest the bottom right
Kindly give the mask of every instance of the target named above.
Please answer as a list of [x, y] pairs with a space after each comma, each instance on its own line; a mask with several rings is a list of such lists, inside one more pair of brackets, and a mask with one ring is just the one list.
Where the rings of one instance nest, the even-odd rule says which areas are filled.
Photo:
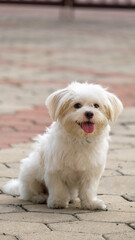
[[105, 233], [121, 233], [131, 231], [130, 227], [125, 224], [117, 223], [103, 223], [103, 222], [88, 222], [78, 221], [69, 223], [54, 223], [49, 224], [53, 231], [61, 232], [76, 232], [76, 233], [91, 233], [91, 234], [105, 234]]

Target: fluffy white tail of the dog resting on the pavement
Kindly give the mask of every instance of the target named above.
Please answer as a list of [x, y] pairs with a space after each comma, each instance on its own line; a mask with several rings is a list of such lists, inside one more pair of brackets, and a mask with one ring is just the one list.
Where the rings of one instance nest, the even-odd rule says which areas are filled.
[[19, 179], [12, 179], [7, 182], [3, 187], [2, 191], [6, 194], [13, 196], [20, 195], [19, 193]]

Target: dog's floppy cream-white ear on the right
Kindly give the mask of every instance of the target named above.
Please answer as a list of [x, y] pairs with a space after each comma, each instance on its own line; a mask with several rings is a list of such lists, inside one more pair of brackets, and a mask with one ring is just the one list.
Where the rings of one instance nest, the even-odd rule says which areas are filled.
[[123, 104], [114, 94], [107, 92], [108, 104], [106, 106], [107, 117], [112, 122], [116, 121], [123, 110]]

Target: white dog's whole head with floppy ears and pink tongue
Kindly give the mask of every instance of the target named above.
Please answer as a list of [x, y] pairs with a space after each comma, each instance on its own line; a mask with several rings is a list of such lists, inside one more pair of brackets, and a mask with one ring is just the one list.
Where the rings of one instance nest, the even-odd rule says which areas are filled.
[[46, 105], [52, 119], [79, 138], [100, 135], [123, 108], [120, 100], [100, 85], [78, 82], [51, 94]]

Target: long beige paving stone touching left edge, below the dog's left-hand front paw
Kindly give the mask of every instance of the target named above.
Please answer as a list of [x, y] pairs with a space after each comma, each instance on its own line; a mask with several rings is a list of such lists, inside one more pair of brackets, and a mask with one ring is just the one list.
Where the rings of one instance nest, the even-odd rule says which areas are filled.
[[54, 223], [54, 222], [67, 222], [76, 221], [74, 216], [68, 214], [58, 213], [34, 213], [34, 212], [22, 212], [12, 214], [0, 214], [0, 219], [4, 221], [16, 221], [16, 222], [35, 222], [35, 223]]

